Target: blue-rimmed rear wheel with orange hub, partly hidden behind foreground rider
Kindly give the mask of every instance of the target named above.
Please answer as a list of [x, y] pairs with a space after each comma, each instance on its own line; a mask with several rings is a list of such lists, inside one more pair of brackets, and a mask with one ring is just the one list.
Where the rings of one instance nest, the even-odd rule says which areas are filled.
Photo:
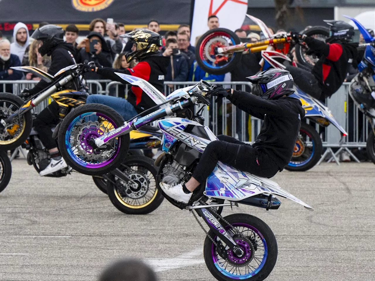
[[322, 153], [323, 143], [318, 132], [311, 125], [301, 123], [292, 159], [285, 169], [298, 172], [307, 171], [319, 162]]

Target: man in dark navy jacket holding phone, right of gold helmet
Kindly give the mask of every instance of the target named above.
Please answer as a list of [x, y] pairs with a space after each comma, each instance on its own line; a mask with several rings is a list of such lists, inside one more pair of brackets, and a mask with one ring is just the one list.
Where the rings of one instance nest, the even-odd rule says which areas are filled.
[[[169, 38], [166, 40], [165, 51], [163, 52], [164, 57], [170, 57], [169, 66], [166, 69], [165, 81], [186, 81], [187, 74], [189, 72], [189, 66], [186, 58], [181, 54], [178, 49], [177, 40]], [[169, 88], [173, 88], [173, 85], [168, 85]]]

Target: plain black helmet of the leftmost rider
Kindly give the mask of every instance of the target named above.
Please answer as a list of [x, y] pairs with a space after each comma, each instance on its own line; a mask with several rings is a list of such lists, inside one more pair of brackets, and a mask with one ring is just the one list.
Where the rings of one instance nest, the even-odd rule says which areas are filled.
[[43, 45], [38, 49], [40, 55], [51, 55], [52, 49], [58, 43], [64, 42], [64, 30], [60, 26], [47, 24], [37, 28], [31, 38], [43, 42]]

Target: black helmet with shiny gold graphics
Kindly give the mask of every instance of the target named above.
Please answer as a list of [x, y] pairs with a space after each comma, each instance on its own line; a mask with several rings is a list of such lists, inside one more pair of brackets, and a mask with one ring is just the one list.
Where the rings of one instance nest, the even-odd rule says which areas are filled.
[[[125, 55], [127, 63], [131, 60], [157, 54], [159, 48], [163, 45], [162, 36], [147, 29], [132, 31], [121, 35], [121, 37], [129, 38], [124, 48], [124, 52], [127, 52], [127, 55]], [[136, 45], [136, 50], [132, 51], [134, 44]]]

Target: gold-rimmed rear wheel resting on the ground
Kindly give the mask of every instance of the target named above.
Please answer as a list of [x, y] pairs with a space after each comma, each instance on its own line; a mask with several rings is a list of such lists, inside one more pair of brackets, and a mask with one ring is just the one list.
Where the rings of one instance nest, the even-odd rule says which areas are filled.
[[107, 181], [108, 197], [119, 211], [130, 215], [144, 215], [160, 206], [164, 197], [157, 188], [157, 169], [152, 159], [130, 156], [119, 169], [138, 184], [137, 188], [133, 188], [110, 175], [110, 180]]

